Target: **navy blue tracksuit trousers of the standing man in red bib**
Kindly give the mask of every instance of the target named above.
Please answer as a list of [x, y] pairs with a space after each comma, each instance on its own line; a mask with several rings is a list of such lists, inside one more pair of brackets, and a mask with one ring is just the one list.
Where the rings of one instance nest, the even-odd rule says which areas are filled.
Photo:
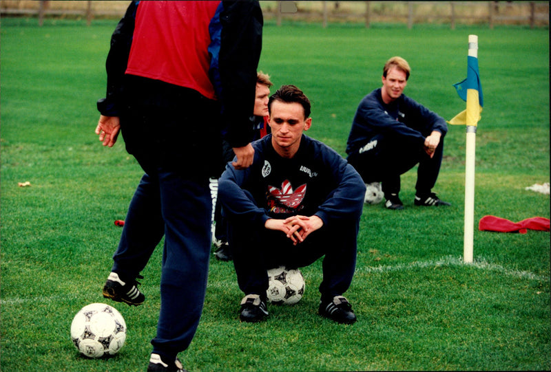
[[[153, 352], [174, 360], [198, 327], [209, 268], [212, 201], [208, 178], [145, 174], [130, 203], [112, 271], [136, 277], [165, 236], [160, 315]], [[167, 359], [165, 359], [167, 358]]]

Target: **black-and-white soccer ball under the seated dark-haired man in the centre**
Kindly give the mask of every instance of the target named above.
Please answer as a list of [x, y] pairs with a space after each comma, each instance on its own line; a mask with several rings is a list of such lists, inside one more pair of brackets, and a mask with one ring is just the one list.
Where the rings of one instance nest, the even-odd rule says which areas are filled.
[[268, 302], [293, 305], [304, 294], [304, 276], [298, 269], [287, 270], [284, 266], [268, 270]]

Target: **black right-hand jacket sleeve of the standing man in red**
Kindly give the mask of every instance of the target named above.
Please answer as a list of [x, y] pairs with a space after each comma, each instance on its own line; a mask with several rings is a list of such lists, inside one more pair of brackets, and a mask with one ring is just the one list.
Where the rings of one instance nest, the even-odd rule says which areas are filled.
[[[250, 118], [256, 90], [256, 70], [262, 49], [262, 10], [258, 1], [222, 1], [220, 56], [214, 74], [222, 107], [225, 140], [232, 147], [247, 145], [253, 135]], [[217, 81], [218, 80], [218, 81]]]

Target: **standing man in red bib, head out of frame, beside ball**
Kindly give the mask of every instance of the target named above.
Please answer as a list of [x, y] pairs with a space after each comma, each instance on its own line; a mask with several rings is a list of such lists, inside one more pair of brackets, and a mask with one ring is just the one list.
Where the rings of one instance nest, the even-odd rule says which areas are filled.
[[113, 146], [121, 129], [145, 174], [103, 296], [141, 305], [136, 278], [165, 237], [147, 371], [183, 371], [177, 355], [194, 337], [207, 286], [209, 176], [220, 164], [221, 133], [236, 169], [252, 163], [249, 117], [261, 45], [258, 1], [134, 1], [112, 35], [96, 134]]

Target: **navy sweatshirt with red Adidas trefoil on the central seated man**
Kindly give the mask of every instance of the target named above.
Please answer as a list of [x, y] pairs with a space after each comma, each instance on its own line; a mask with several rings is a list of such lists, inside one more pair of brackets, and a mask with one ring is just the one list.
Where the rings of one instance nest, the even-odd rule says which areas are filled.
[[362, 215], [362, 177], [329, 146], [303, 134], [291, 159], [275, 152], [271, 135], [253, 147], [249, 168], [237, 171], [229, 163], [218, 181], [218, 197], [231, 218], [258, 228], [267, 219], [292, 215], [317, 215], [324, 225]]

